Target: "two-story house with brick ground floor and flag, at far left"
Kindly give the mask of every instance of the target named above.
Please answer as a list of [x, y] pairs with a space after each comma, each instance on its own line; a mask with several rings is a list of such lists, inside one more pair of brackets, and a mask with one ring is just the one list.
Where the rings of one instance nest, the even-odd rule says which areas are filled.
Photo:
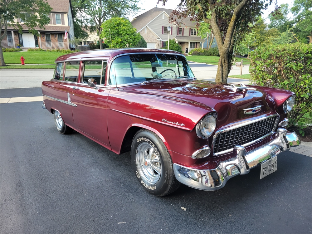
[[[3, 40], [1, 46], [16, 48], [16, 45], [20, 44], [22, 48], [75, 49], [75, 45], [70, 44], [68, 40], [75, 37], [71, 0], [47, 0], [47, 2], [52, 7], [49, 13], [50, 23], [44, 26], [46, 29], [36, 28], [40, 37], [29, 33], [26, 27], [23, 33], [19, 33], [14, 27], [7, 27], [7, 40]], [[15, 22], [23, 24], [21, 19], [15, 19]], [[67, 39], [64, 38], [66, 30]]]

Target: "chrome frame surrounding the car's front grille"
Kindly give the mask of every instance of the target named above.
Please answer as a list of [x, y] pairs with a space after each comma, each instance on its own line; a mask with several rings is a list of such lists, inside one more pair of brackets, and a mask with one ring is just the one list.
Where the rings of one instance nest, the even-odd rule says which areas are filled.
[[[258, 139], [256, 139], [256, 140], [253, 140], [253, 141], [251, 141], [251, 142], [248, 142], [248, 143], [246, 143], [246, 144], [241, 145], [241, 146], [243, 146], [243, 147], [246, 147], [246, 146], [249, 146], [249, 145], [251, 145], [251, 144], [254, 144], [254, 143], [256, 143], [257, 141], [262, 140], [262, 139], [264, 139], [264, 138], [270, 136], [271, 134], [273, 134], [273, 133], [275, 132], [276, 127], [277, 127], [278, 120], [280, 119], [280, 116], [279, 116], [278, 114], [268, 115], [268, 116], [264, 116], [264, 117], [261, 117], [261, 118], [259, 118], [259, 119], [254, 119], [254, 120], [251, 120], [251, 121], [242, 123], [242, 124], [233, 125], [232, 127], [229, 127], [229, 128], [226, 128], [226, 129], [217, 130], [216, 133], [213, 135], [213, 141], [212, 141], [212, 146], [211, 146], [212, 152], [214, 151], [214, 145], [215, 145], [215, 143], [216, 143], [217, 135], [219, 135], [220, 133], [222, 133], [222, 132], [227, 132], [227, 131], [230, 131], [230, 130], [233, 130], [233, 129], [236, 129], [236, 128], [240, 128], [240, 127], [245, 126], [245, 125], [248, 125], [248, 124], [253, 124], [253, 123], [256, 123], [256, 122], [261, 121], [261, 120], [263, 120], [263, 119], [268, 119], [268, 118], [271, 118], [271, 117], [274, 117], [274, 116], [277, 116], [277, 118], [276, 118], [276, 120], [275, 120], [275, 124], [274, 124], [273, 130], [272, 130], [270, 133], [268, 133], [268, 134], [266, 134], [266, 135], [264, 135], [264, 136], [262, 136], [262, 137], [260, 137], [260, 138], [258, 138]], [[214, 155], [214, 156], [218, 156], [218, 155], [220, 155], [220, 154], [226, 154], [226, 153], [232, 152], [233, 149], [234, 149], [234, 148], [227, 149], [227, 150], [224, 150], [224, 151], [221, 151], [221, 152], [217, 152], [217, 153], [213, 153], [213, 155]]]

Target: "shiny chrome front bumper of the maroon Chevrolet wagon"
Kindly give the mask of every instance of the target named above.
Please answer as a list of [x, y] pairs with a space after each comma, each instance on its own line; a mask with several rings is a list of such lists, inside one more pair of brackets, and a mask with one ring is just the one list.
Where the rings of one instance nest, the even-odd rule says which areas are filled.
[[217, 190], [223, 188], [227, 180], [233, 176], [247, 174], [251, 168], [283, 151], [288, 151], [290, 146], [299, 144], [300, 140], [295, 132], [287, 133], [286, 129], [278, 128], [274, 140], [247, 154], [244, 147], [236, 145], [233, 149], [233, 158], [220, 162], [215, 169], [196, 170], [174, 163], [174, 175], [179, 182], [189, 187]]

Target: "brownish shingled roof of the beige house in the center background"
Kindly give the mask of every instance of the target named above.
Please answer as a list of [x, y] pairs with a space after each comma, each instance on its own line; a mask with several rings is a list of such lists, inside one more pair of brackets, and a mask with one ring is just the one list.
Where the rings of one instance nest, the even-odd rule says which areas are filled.
[[[144, 12], [143, 14], [138, 15], [137, 17], [134, 17], [131, 24], [133, 27], [137, 29], [137, 31], [139, 31], [163, 11], [166, 12], [168, 15], [170, 15], [173, 10], [154, 7], [149, 11]], [[183, 19], [182, 26], [195, 27], [196, 23], [191, 22], [190, 17], [186, 17]]]

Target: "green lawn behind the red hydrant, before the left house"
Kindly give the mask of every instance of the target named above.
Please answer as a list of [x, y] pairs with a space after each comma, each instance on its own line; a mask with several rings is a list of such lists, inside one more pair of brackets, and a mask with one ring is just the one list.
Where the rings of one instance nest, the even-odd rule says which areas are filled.
[[[22, 52], [3, 52], [5, 63], [21, 64], [21, 56], [27, 64], [54, 64], [56, 58], [65, 53], [46, 52], [46, 51], [22, 51]], [[34, 67], [33, 67], [34, 68]]]

